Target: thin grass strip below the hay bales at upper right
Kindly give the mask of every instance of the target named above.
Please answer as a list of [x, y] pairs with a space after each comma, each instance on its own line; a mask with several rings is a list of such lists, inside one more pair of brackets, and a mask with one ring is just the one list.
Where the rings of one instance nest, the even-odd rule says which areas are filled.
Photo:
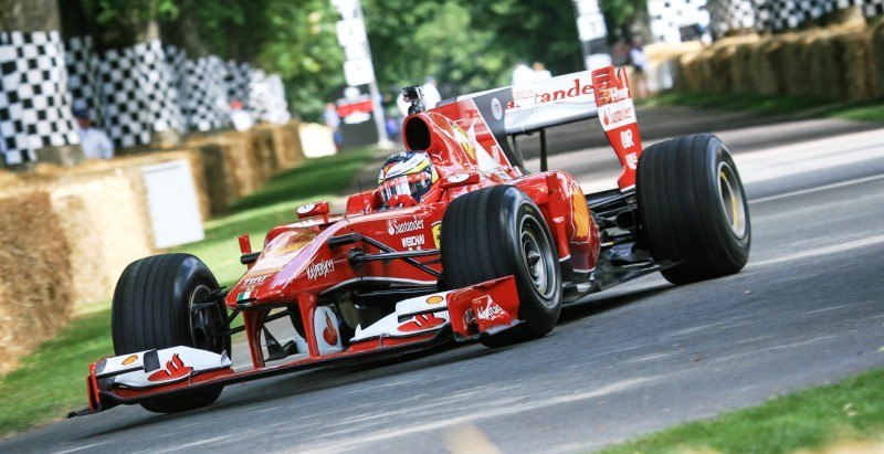
[[664, 93], [642, 101], [645, 106], [686, 106], [718, 110], [748, 110], [762, 115], [832, 117], [884, 123], [884, 99], [835, 102], [799, 96]]

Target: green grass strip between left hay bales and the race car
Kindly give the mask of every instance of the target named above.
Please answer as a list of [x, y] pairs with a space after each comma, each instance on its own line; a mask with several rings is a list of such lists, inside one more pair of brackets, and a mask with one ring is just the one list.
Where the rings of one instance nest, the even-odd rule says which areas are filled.
[[[340, 196], [372, 157], [371, 149], [304, 161], [283, 172], [231, 210], [206, 223], [206, 240], [175, 249], [199, 256], [231, 285], [244, 273], [236, 236], [249, 232], [253, 247], [275, 225], [294, 222], [298, 203]], [[109, 303], [75, 317], [55, 339], [25, 357], [19, 369], [0, 378], [0, 437], [63, 416], [86, 404], [86, 367], [112, 355]]]

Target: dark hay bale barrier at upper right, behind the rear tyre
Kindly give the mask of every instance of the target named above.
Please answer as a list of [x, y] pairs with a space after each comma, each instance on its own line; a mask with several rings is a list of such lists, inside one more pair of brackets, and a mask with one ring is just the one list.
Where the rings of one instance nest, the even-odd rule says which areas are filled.
[[726, 38], [665, 61], [675, 62], [682, 93], [872, 99], [884, 96], [884, 22]]

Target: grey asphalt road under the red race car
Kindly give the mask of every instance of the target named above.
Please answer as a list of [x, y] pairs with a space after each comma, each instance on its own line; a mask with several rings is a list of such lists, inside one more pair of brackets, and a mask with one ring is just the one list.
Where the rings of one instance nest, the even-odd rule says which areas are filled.
[[[683, 287], [648, 276], [506, 349], [229, 387], [179, 415], [118, 408], [0, 452], [582, 452], [884, 366], [884, 128], [680, 108], [640, 119], [649, 142], [712, 130], [729, 145], [750, 198], [741, 273]], [[613, 155], [579, 139], [587, 128], [600, 134], [554, 135], [550, 167], [612, 187]]]

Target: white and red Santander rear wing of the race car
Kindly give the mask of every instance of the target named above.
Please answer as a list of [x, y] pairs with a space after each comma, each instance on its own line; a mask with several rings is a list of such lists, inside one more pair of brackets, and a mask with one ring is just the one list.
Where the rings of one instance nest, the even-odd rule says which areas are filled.
[[641, 137], [629, 81], [622, 68], [618, 71], [613, 66], [606, 66], [591, 72], [581, 71], [526, 85], [473, 93], [460, 96], [454, 102], [466, 99], [476, 102], [480, 112], [494, 112], [494, 117], [498, 116], [496, 110], [499, 107], [492, 104], [491, 108], [484, 109], [484, 101], [498, 103], [497, 99], [502, 99], [506, 103], [503, 122], [487, 117], [486, 120], [502, 145], [506, 144], [507, 137], [513, 137], [514, 147], [504, 146], [504, 149], [509, 160], [519, 167], [524, 168], [524, 162], [515, 146], [515, 137], [539, 131], [541, 171], [547, 170], [546, 128], [599, 118], [609, 144], [623, 166], [618, 180], [620, 190], [635, 186]]

